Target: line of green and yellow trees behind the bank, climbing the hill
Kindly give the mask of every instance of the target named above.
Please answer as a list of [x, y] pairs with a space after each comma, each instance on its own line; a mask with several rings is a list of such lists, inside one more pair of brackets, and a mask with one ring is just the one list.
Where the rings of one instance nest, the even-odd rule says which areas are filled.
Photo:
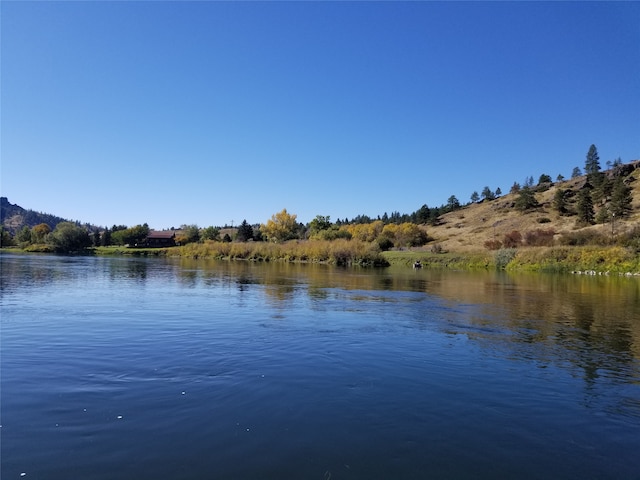
[[[631, 212], [632, 205], [632, 190], [625, 181], [629, 170], [624, 168], [620, 159], [607, 162], [607, 166], [608, 172], [603, 172], [597, 148], [591, 145], [584, 165], [586, 175], [584, 184], [577, 189], [577, 192], [560, 186], [553, 198], [553, 208], [560, 215], [577, 216], [578, 221], [584, 225], [594, 222], [603, 223], [613, 218], [627, 216]], [[579, 167], [575, 167], [572, 178], [580, 176], [582, 171]], [[556, 180], [564, 182], [564, 177], [558, 175]], [[547, 174], [540, 175], [537, 184], [534, 183], [532, 176], [525, 178], [522, 185], [514, 182], [509, 192], [516, 195], [513, 207], [521, 212], [538, 208], [540, 205], [536, 200], [536, 193], [548, 190], [552, 185], [553, 181]], [[471, 194], [469, 203], [493, 201], [501, 195], [500, 188], [494, 191], [485, 186], [480, 194], [477, 191]], [[250, 225], [245, 219], [235, 229], [182, 225], [176, 230], [176, 243], [186, 245], [204, 241], [285, 242], [293, 239], [356, 238], [377, 242], [381, 250], [420, 246], [430, 240], [425, 230], [426, 225], [437, 225], [443, 214], [463, 207], [464, 205], [456, 196], [451, 195], [446, 204], [439, 207], [429, 207], [425, 204], [409, 214], [385, 212], [375, 218], [358, 215], [352, 219], [337, 219], [335, 222], [332, 222], [329, 216], [317, 215], [308, 224], [298, 222], [295, 214], [283, 209], [272, 215], [264, 224]], [[222, 233], [223, 230], [226, 231]], [[2, 228], [1, 241], [2, 246], [17, 244], [28, 248], [33, 245], [44, 245], [50, 251], [74, 252], [98, 246], [144, 246], [149, 232], [150, 229], [146, 223], [133, 227], [113, 225], [111, 228], [91, 229], [73, 222], [60, 222], [53, 230], [47, 223], [41, 223], [32, 228], [24, 226], [15, 237]]]

